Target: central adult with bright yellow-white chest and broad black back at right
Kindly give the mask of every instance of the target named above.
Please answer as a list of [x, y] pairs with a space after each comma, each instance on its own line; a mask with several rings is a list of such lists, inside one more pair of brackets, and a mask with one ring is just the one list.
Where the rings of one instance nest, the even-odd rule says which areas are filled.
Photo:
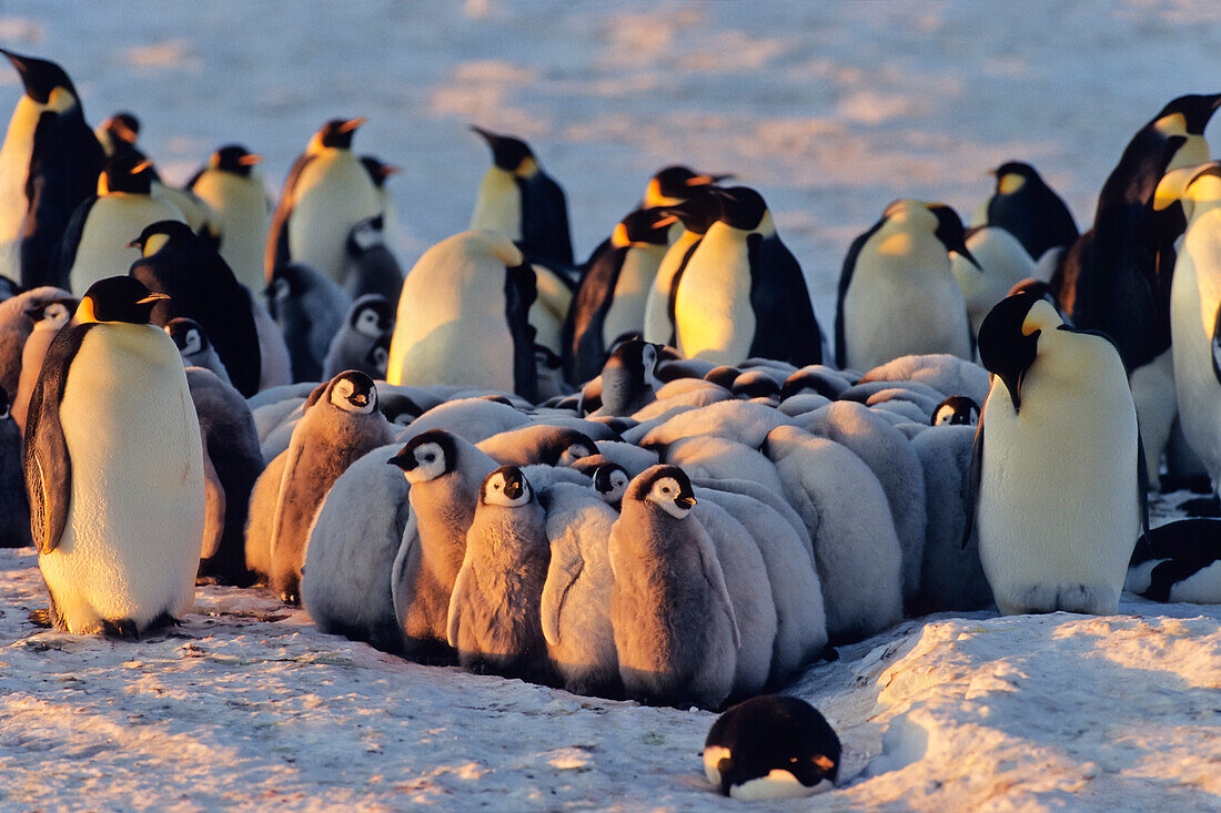
[[679, 350], [717, 364], [747, 358], [799, 367], [821, 363], [822, 332], [806, 278], [780, 242], [763, 197], [746, 187], [718, 194], [720, 215], [675, 294]]

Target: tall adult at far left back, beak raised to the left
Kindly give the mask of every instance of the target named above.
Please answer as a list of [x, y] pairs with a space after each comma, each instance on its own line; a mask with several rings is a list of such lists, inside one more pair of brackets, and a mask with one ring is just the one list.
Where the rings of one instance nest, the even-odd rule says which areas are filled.
[[26, 93], [0, 146], [0, 275], [27, 288], [55, 282], [51, 259], [105, 164], [72, 79], [55, 62], [0, 49]]

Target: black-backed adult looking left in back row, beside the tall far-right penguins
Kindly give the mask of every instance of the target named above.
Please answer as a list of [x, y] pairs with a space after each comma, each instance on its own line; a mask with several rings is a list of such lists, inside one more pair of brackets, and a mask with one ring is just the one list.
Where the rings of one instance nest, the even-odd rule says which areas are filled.
[[996, 189], [984, 204], [985, 222], [1012, 234], [1032, 260], [1077, 240], [1079, 232], [1072, 212], [1033, 166], [1006, 161], [991, 175]]

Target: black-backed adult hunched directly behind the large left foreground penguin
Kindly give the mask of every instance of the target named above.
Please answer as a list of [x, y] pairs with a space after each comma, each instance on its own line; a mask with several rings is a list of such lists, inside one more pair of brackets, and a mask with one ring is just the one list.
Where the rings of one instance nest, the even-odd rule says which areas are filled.
[[250, 292], [216, 247], [176, 220], [150, 223], [128, 244], [140, 251], [128, 273], [170, 295], [154, 306], [153, 322], [165, 327], [178, 316], [195, 320], [237, 391], [245, 398], [259, 392], [263, 365]]

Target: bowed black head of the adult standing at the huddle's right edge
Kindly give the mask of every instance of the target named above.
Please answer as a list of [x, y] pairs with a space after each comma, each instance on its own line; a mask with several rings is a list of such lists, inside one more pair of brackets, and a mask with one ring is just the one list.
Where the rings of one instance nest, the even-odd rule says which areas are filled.
[[1022, 409], [1022, 382], [1039, 353], [1039, 334], [1061, 325], [1056, 309], [1033, 293], [1001, 299], [979, 325], [979, 360], [1005, 383], [1015, 413]]

